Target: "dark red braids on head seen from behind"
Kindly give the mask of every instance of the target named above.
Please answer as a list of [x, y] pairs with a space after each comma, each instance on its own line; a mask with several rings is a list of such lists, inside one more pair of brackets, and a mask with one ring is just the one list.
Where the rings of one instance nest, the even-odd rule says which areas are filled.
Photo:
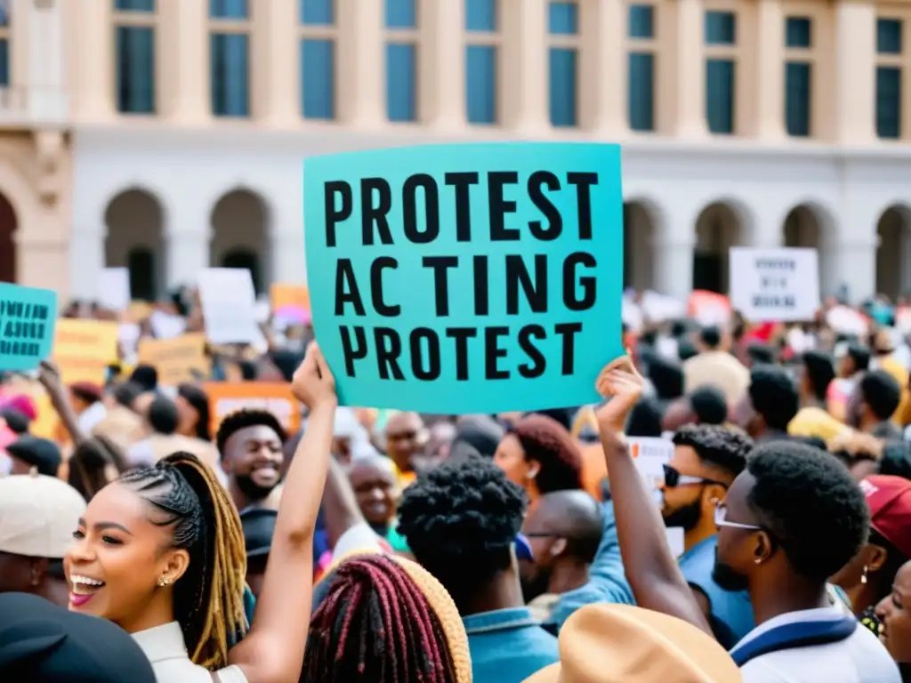
[[354, 556], [324, 581], [302, 681], [455, 683], [444, 627], [403, 566], [383, 555]]

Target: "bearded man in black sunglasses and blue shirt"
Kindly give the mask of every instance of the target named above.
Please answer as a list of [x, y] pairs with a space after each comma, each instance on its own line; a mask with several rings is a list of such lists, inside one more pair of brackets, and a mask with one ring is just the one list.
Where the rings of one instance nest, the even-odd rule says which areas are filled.
[[712, 576], [718, 541], [715, 503], [743, 471], [752, 439], [739, 430], [687, 424], [673, 442], [674, 455], [664, 466], [661, 515], [665, 525], [683, 528], [683, 576], [715, 637], [733, 647], [754, 623], [746, 592], [725, 590]]

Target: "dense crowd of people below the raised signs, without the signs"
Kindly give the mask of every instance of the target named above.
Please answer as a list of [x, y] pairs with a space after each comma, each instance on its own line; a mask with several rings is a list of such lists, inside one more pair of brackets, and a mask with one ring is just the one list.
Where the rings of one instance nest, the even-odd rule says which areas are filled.
[[[46, 361], [49, 439], [5, 373], [0, 680], [911, 681], [911, 350], [886, 322], [650, 323], [601, 403], [458, 417], [339, 406], [307, 329], [213, 348], [220, 377], [288, 382], [291, 433], [215, 424], [153, 366]], [[640, 439], [672, 450], [657, 489]]]

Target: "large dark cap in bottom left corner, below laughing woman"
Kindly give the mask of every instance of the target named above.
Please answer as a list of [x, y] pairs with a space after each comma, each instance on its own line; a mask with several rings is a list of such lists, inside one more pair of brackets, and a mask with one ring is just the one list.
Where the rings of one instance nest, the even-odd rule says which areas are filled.
[[114, 623], [26, 593], [0, 595], [0, 680], [155, 683], [137, 642]]

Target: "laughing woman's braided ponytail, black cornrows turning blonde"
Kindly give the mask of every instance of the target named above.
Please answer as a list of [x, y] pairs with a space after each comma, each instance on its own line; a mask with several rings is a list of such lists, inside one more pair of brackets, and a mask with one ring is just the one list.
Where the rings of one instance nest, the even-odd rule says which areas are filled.
[[169, 455], [119, 482], [165, 514], [156, 524], [171, 527], [172, 547], [189, 553], [189, 567], [174, 584], [174, 616], [190, 658], [210, 670], [226, 667], [230, 642], [248, 627], [241, 520], [227, 492], [189, 453]]

